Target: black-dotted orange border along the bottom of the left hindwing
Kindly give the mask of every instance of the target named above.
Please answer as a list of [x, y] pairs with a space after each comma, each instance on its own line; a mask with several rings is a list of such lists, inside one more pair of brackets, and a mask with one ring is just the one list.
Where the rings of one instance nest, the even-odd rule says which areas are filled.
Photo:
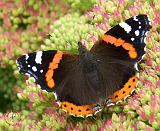
[[61, 102], [61, 108], [74, 116], [87, 116], [96, 112], [91, 105], [77, 106], [70, 102]]

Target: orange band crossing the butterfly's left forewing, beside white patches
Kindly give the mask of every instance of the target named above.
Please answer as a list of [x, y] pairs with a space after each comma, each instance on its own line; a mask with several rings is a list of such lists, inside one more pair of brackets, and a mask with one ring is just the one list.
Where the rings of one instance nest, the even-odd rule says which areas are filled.
[[46, 77], [46, 82], [49, 88], [53, 88], [55, 86], [54, 80], [53, 80], [53, 74], [54, 74], [54, 69], [58, 68], [58, 63], [62, 59], [63, 53], [60, 51], [57, 51], [55, 54], [52, 62], [49, 64], [48, 71], [45, 75]]

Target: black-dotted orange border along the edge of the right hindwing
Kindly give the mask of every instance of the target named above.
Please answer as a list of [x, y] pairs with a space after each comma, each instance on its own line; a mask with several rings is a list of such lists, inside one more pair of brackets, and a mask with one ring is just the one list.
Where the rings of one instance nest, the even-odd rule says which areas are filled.
[[125, 97], [127, 97], [136, 87], [137, 82], [139, 81], [138, 77], [133, 76], [131, 77], [128, 82], [124, 85], [123, 88], [116, 91], [110, 98], [113, 102], [118, 102]]

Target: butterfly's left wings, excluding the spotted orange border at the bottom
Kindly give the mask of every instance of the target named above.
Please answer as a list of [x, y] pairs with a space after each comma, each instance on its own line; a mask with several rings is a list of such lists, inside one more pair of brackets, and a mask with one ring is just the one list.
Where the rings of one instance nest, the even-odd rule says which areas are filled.
[[97, 93], [86, 79], [77, 57], [55, 50], [39, 51], [18, 58], [17, 64], [20, 72], [34, 77], [43, 90], [56, 92], [61, 102], [95, 104]]

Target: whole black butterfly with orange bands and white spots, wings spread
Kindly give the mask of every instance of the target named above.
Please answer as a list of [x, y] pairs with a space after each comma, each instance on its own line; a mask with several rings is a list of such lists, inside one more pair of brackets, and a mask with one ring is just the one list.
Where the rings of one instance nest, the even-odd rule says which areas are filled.
[[147, 15], [134, 16], [106, 32], [90, 51], [79, 42], [79, 55], [38, 51], [18, 58], [17, 65], [43, 90], [56, 93], [62, 109], [89, 116], [101, 110], [102, 101], [109, 106], [135, 89], [150, 28]]

